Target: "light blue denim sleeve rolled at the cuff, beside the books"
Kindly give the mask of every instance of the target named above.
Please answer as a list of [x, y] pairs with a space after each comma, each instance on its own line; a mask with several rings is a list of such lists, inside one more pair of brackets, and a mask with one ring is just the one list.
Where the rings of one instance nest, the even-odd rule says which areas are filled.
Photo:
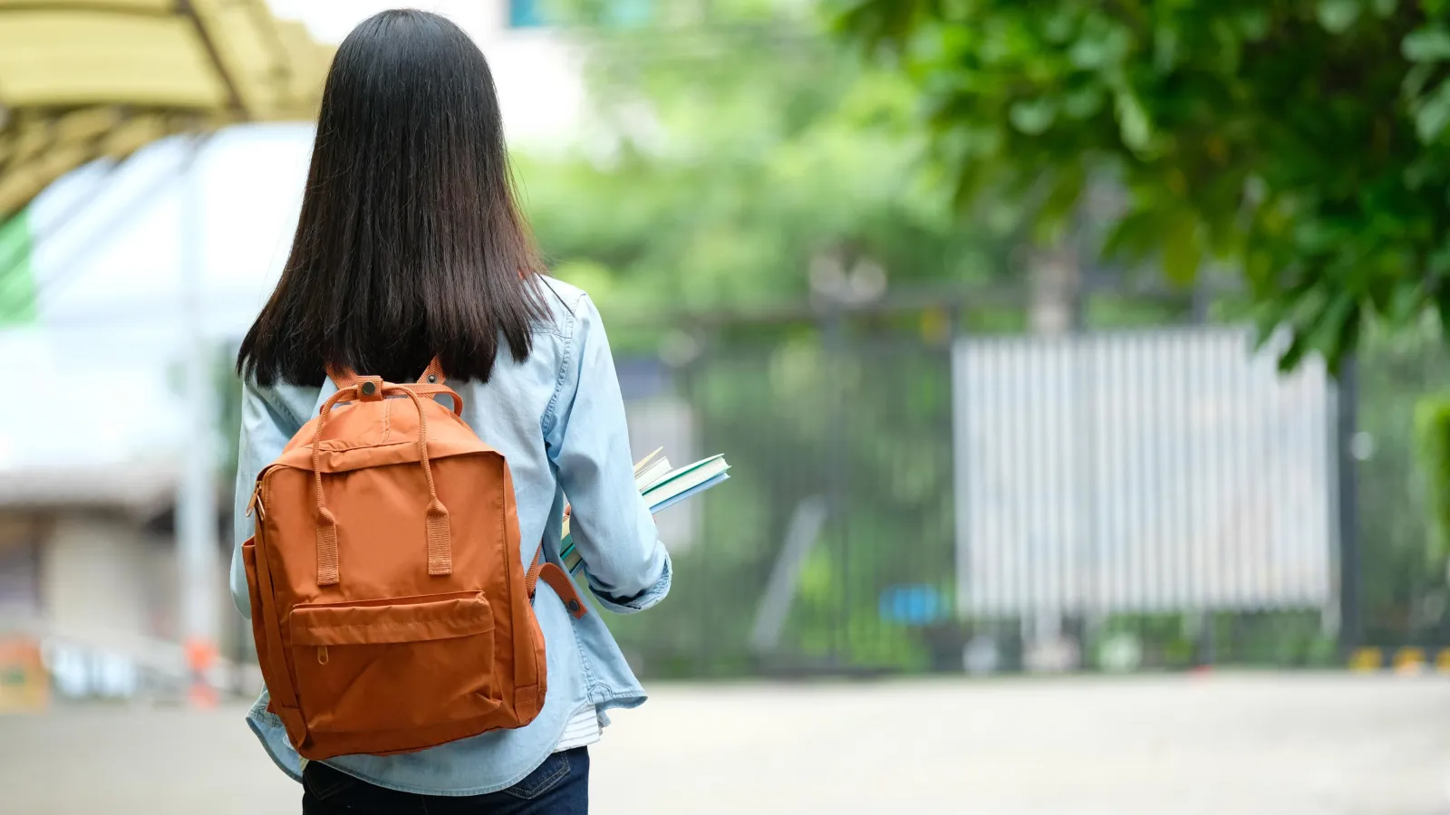
[[670, 592], [670, 555], [635, 489], [629, 428], [609, 339], [589, 297], [574, 307], [545, 423], [589, 587], [609, 611], [644, 611]]

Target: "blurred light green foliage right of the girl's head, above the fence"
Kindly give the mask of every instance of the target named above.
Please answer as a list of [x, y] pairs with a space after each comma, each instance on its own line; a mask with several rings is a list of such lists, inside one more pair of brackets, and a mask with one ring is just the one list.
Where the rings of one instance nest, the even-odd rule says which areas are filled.
[[592, 138], [521, 157], [519, 175], [555, 274], [606, 313], [800, 302], [812, 268], [818, 284], [861, 273], [863, 296], [1005, 274], [1000, 229], [921, 171], [911, 84], [779, 6], [682, 3], [584, 29]]

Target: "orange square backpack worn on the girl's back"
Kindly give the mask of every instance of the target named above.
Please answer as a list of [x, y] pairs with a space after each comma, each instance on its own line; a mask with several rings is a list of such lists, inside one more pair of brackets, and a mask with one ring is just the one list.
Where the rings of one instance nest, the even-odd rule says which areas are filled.
[[[544, 706], [534, 586], [503, 455], [435, 360], [418, 384], [329, 371], [338, 393], [257, 477], [242, 544], [268, 709], [306, 758], [407, 753], [523, 727]], [[435, 402], [452, 399], [452, 410]]]

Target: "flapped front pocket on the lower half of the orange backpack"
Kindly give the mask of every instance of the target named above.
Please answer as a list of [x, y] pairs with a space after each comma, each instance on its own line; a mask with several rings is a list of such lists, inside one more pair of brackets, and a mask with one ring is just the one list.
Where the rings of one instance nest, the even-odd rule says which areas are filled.
[[289, 631], [309, 731], [419, 728], [502, 703], [481, 592], [299, 605]]

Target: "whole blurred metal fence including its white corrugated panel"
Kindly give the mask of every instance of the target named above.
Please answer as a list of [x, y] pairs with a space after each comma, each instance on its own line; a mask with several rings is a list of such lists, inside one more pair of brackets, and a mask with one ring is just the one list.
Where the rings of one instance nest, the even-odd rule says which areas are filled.
[[1450, 642], [1409, 429], [1450, 381], [1437, 348], [1370, 344], [1343, 397], [1234, 328], [803, 332], [625, 376], [735, 477], [661, 518], [674, 593], [612, 626], [670, 676], [1343, 664], [1360, 642]]

